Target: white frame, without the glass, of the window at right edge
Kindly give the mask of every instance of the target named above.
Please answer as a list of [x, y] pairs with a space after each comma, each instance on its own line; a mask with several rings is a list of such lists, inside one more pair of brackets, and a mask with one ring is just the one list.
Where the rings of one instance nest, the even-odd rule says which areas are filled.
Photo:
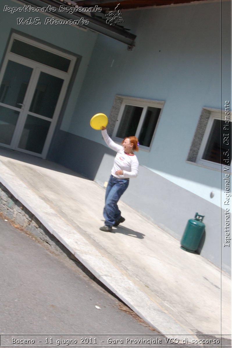
[[[205, 108], [205, 109], [207, 109], [207, 108]], [[209, 120], [207, 122], [207, 126], [205, 128], [204, 135], [203, 135], [203, 138], [201, 141], [201, 145], [200, 145], [197, 157], [196, 157], [196, 163], [199, 165], [203, 165], [204, 167], [210, 167], [210, 168], [218, 169], [220, 171], [223, 171], [224, 166], [229, 167], [230, 173], [231, 173], [232, 161], [231, 161], [230, 165], [227, 165], [226, 163], [220, 164], [220, 163], [216, 163], [216, 162], [209, 161], [209, 160], [202, 158], [204, 151], [205, 151], [205, 148], [206, 148], [207, 143], [208, 143], [208, 139], [209, 139], [210, 134], [211, 134], [214, 120], [222, 121], [223, 120], [222, 115], [225, 115], [225, 111], [223, 111], [223, 110], [215, 110], [215, 109], [207, 109], [207, 110], [210, 111], [210, 117], [209, 117]], [[230, 122], [232, 121], [231, 114], [230, 114], [229, 121]], [[232, 127], [232, 125], [230, 127]], [[230, 132], [230, 134], [231, 134], [231, 129], [228, 132]], [[231, 139], [230, 139], [230, 141], [231, 141]]]

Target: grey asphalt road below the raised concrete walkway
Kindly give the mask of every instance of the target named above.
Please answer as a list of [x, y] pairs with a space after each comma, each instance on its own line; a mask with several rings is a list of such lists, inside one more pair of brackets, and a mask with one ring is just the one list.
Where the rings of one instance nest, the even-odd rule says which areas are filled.
[[[0, 262], [1, 347], [118, 346], [114, 341], [106, 344], [110, 337], [149, 337], [161, 339], [159, 345], [165, 343], [162, 335], [157, 336], [74, 261], [1, 218]], [[22, 339], [35, 343], [17, 341]], [[61, 339], [77, 343], [57, 342]]]

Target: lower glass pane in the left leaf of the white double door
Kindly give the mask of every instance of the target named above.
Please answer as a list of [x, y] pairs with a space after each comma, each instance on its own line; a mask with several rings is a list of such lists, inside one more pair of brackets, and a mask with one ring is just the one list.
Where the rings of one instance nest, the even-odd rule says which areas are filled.
[[18, 115], [18, 111], [0, 106], [0, 143], [10, 145]]

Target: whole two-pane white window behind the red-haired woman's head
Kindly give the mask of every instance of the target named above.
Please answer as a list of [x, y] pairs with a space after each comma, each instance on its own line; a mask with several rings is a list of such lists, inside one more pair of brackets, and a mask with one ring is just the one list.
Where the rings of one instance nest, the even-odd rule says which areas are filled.
[[111, 110], [111, 114], [117, 114], [113, 139], [121, 142], [126, 136], [136, 136], [140, 148], [149, 150], [164, 102], [118, 97], [121, 100], [120, 109], [118, 112], [114, 112], [114, 107]]

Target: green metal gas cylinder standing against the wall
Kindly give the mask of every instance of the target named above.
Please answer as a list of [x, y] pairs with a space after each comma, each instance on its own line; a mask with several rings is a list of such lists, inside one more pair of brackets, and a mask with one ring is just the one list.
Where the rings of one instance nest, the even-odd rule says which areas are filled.
[[195, 214], [194, 219], [187, 222], [185, 232], [181, 238], [181, 249], [194, 253], [201, 242], [205, 224], [202, 222], [204, 215]]

